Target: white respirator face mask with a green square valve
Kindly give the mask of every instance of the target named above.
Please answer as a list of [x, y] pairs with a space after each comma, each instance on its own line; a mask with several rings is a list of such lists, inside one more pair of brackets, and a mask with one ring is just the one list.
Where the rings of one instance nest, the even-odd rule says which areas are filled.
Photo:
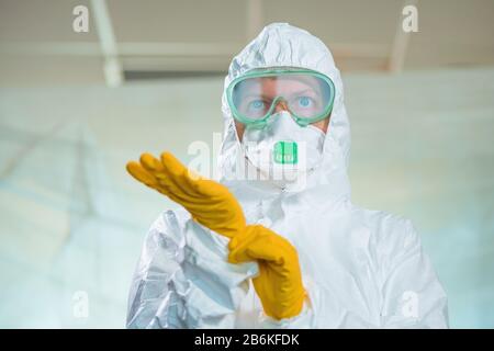
[[312, 125], [300, 126], [290, 112], [282, 111], [262, 127], [247, 125], [242, 144], [263, 179], [290, 182], [321, 163], [325, 136]]

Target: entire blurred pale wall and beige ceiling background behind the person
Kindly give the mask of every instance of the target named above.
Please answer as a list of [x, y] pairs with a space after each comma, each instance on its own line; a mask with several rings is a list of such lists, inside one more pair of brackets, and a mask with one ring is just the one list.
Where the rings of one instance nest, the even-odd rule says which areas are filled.
[[0, 0], [0, 327], [125, 326], [144, 236], [175, 205], [124, 166], [187, 162], [197, 140], [213, 158], [229, 60], [271, 22], [343, 71], [353, 202], [414, 222], [451, 327], [494, 327], [493, 19], [492, 0]]

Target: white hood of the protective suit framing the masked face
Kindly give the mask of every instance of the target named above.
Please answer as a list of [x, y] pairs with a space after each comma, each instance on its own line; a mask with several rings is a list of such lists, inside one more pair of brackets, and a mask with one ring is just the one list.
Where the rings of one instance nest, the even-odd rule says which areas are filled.
[[218, 180], [231, 188], [240, 197], [240, 202], [248, 201], [248, 197], [254, 200], [285, 193], [285, 189], [280, 189], [273, 183], [247, 181], [245, 178], [236, 177], [238, 163], [245, 163], [246, 159], [226, 100], [226, 89], [235, 78], [252, 69], [269, 67], [312, 69], [329, 77], [336, 90], [322, 165], [307, 177], [305, 186], [291, 195], [311, 196], [315, 202], [349, 199], [347, 167], [350, 156], [350, 125], [344, 104], [339, 70], [329, 49], [319, 38], [288, 23], [272, 23], [266, 26], [229, 65], [222, 97], [224, 134], [218, 155]]

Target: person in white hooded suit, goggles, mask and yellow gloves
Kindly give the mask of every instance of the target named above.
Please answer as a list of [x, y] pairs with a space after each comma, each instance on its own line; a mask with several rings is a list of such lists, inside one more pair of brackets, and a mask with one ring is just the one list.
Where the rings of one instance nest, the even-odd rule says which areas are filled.
[[169, 152], [127, 163], [181, 206], [145, 239], [128, 328], [448, 327], [411, 222], [351, 203], [343, 83], [318, 38], [266, 26], [234, 57], [222, 112], [218, 181]]

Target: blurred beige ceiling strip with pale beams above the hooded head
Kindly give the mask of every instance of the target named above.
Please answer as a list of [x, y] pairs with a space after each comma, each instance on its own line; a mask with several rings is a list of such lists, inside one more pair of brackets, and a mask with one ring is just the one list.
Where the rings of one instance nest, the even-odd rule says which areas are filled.
[[[419, 30], [407, 36], [397, 31], [406, 3]], [[89, 33], [72, 31], [78, 4]], [[0, 83], [223, 72], [271, 22], [319, 36], [343, 71], [493, 65], [493, 19], [492, 0], [0, 0]]]

